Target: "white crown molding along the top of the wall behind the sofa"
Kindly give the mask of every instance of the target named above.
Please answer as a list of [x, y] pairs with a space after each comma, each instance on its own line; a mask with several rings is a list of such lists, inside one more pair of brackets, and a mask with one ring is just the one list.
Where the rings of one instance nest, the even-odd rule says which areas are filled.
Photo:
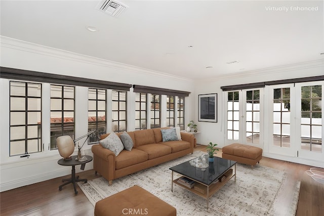
[[144, 75], [158, 76], [161, 78], [169, 78], [173, 80], [181, 81], [190, 81], [193, 82], [193, 79], [170, 75], [168, 73], [159, 72], [155, 70], [150, 70], [146, 68], [141, 68], [133, 65], [128, 65], [124, 63], [114, 62], [110, 60], [100, 59], [92, 56], [82, 55], [78, 53], [73, 53], [66, 50], [60, 50], [52, 47], [47, 47], [39, 44], [34, 44], [32, 42], [27, 42], [23, 40], [18, 40], [11, 37], [6, 37], [0, 35], [0, 46], [6, 47], [14, 50], [35, 53], [38, 55], [50, 56], [55, 58], [60, 58], [64, 60], [82, 62], [86, 64], [92, 64], [96, 66], [109, 67], [120, 71], [136, 72]]

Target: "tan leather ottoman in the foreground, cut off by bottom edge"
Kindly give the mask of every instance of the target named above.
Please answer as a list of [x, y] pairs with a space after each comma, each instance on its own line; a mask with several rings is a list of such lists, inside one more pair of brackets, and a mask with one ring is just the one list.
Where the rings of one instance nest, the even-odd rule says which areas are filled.
[[109, 215], [176, 216], [177, 209], [135, 185], [96, 203], [95, 216]]

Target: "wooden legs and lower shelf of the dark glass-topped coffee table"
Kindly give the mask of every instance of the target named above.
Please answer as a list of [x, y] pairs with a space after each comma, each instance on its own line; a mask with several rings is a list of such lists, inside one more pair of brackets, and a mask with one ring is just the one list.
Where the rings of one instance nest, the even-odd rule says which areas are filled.
[[187, 186], [184, 186], [184, 185], [178, 183], [178, 180], [180, 178], [182, 178], [182, 177], [186, 177], [186, 176], [181, 176], [181, 177], [173, 180], [173, 171], [172, 171], [172, 187], [171, 187], [171, 191], [173, 192], [173, 183], [176, 184], [176, 185], [179, 185], [180, 187], [185, 188], [186, 190], [191, 191], [192, 193], [194, 193], [194, 194], [196, 194], [196, 195], [198, 195], [200, 197], [203, 197], [204, 199], [207, 199], [207, 208], [208, 208], [209, 207], [209, 198], [211, 196], [213, 196], [217, 191], [219, 191], [219, 189], [221, 189], [233, 177], [234, 177], [234, 181], [236, 182], [236, 164], [235, 164], [235, 168], [234, 168], [232, 174], [230, 176], [226, 177], [225, 179], [223, 179], [222, 182], [219, 182], [217, 180], [214, 183], [212, 183], [211, 185], [205, 185], [203, 183], [195, 181], [194, 186], [199, 187], [200, 190], [206, 191], [206, 193], [201, 193], [201, 192], [197, 191], [194, 188], [189, 188]]

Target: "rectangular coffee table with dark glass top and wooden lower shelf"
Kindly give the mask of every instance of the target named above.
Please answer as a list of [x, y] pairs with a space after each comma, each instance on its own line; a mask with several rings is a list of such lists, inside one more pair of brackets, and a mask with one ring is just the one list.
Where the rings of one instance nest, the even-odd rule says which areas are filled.
[[[207, 199], [207, 208], [209, 207], [209, 198], [213, 196], [221, 187], [223, 187], [230, 179], [234, 177], [236, 182], [236, 161], [227, 160], [220, 157], [214, 157], [214, 162], [209, 163], [206, 168], [195, 167], [190, 161], [180, 163], [170, 167], [172, 170], [171, 191], [173, 192], [173, 184], [179, 185], [198, 196]], [[173, 179], [173, 172], [182, 175], [177, 179]], [[180, 178], [186, 177], [193, 180], [193, 187], [183, 184]]]

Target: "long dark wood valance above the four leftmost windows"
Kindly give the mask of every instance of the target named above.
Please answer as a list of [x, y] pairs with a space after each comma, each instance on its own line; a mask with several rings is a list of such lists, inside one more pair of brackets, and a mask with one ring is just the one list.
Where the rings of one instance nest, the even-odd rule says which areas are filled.
[[113, 89], [130, 91], [131, 84], [110, 82], [98, 79], [88, 79], [76, 76], [66, 76], [53, 73], [44, 73], [31, 70], [21, 70], [9, 67], [0, 67], [0, 78], [18, 79], [26, 81], [47, 82], [62, 85], [75, 85], [98, 89]]

